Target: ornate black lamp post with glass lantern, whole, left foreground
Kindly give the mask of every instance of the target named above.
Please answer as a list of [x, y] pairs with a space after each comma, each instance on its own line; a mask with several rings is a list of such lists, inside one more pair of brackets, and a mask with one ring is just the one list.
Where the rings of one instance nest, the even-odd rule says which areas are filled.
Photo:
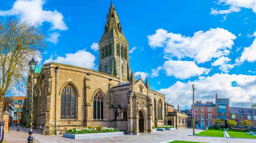
[[30, 99], [30, 125], [29, 125], [29, 131], [28, 131], [28, 138], [27, 142], [28, 143], [33, 143], [33, 129], [32, 129], [32, 118], [33, 118], [33, 88], [34, 88], [34, 83], [33, 83], [33, 78], [34, 78], [34, 71], [36, 68], [37, 61], [35, 61], [34, 57], [31, 59], [31, 61], [28, 62], [29, 65], [29, 70], [31, 72], [31, 99]]

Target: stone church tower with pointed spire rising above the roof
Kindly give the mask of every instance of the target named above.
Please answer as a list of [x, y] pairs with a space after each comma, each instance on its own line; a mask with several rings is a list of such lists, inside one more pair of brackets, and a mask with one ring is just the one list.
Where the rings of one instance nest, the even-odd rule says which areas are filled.
[[[121, 55], [119, 46], [121, 47]], [[123, 35], [118, 15], [111, 2], [105, 30], [99, 42], [98, 70], [120, 77], [120, 56], [122, 78], [128, 80], [130, 77], [129, 44]]]

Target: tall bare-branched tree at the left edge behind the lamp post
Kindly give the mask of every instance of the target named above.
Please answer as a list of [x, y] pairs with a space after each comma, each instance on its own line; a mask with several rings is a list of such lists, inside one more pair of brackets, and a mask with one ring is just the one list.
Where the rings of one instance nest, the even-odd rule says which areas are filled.
[[[0, 105], [11, 86], [26, 82], [28, 61], [32, 56], [40, 58], [40, 51], [45, 46], [45, 35], [36, 25], [14, 18], [0, 19]], [[1, 107], [0, 121], [2, 114]]]

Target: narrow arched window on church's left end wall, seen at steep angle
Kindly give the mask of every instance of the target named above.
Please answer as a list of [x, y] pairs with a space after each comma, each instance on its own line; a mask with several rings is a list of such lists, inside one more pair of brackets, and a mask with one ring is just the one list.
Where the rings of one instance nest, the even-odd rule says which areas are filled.
[[40, 86], [40, 95], [41, 95], [41, 113], [45, 113], [46, 109], [46, 83], [45, 83], [45, 78], [44, 76], [42, 77], [41, 80], [41, 86]]

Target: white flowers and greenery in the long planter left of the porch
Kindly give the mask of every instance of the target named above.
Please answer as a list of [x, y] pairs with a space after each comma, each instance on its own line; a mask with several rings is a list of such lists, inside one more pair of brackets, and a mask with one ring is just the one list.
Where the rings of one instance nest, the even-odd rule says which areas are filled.
[[118, 129], [114, 129], [112, 127], [85, 127], [84, 129], [69, 129], [66, 133], [68, 134], [88, 134], [88, 133], [108, 133], [108, 132], [119, 132]]

